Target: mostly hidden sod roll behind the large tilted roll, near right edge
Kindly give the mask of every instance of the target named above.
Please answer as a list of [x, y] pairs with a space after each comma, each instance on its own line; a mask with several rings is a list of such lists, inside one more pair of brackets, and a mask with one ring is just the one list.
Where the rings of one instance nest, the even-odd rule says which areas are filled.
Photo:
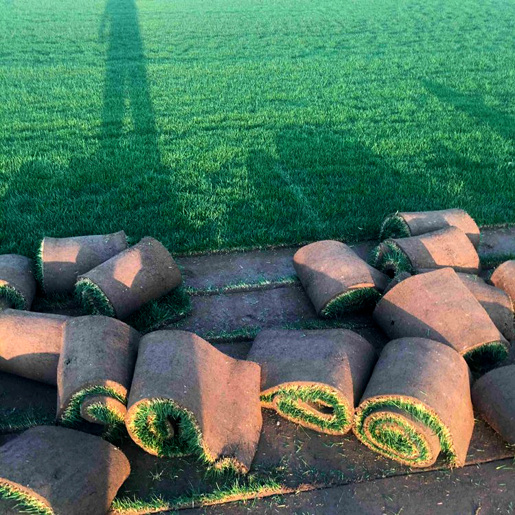
[[458, 274], [461, 282], [476, 297], [479, 304], [485, 308], [496, 328], [505, 339], [512, 341], [515, 337], [514, 311], [510, 296], [500, 288], [486, 284], [481, 277], [464, 273]]

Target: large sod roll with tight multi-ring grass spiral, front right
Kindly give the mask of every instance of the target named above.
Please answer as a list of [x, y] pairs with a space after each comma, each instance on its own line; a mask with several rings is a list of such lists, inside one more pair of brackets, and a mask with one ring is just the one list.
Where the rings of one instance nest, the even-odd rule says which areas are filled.
[[440, 453], [463, 466], [473, 428], [469, 370], [455, 350], [425, 338], [385, 346], [354, 417], [363, 444], [411, 467]]

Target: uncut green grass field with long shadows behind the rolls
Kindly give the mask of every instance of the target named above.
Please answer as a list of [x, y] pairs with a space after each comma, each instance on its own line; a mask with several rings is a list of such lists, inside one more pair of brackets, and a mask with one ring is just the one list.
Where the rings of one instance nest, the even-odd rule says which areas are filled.
[[515, 222], [512, 0], [0, 0], [0, 252]]

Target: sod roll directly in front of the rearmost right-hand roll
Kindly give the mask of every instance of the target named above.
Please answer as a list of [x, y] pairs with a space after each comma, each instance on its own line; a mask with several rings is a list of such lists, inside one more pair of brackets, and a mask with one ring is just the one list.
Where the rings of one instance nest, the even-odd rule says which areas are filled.
[[371, 264], [391, 277], [448, 266], [457, 272], [473, 274], [481, 269], [474, 245], [457, 227], [385, 240], [372, 251]]

